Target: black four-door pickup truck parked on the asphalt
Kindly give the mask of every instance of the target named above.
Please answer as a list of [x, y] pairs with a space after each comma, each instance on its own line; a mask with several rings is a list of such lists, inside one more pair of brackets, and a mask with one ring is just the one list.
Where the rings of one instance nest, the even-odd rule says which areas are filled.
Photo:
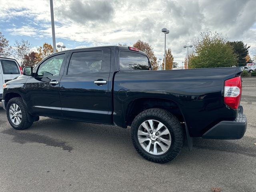
[[23, 130], [39, 116], [131, 127], [147, 160], [174, 159], [185, 138], [240, 139], [246, 131], [241, 68], [152, 71], [132, 47], [102, 46], [52, 54], [4, 84], [2, 106]]

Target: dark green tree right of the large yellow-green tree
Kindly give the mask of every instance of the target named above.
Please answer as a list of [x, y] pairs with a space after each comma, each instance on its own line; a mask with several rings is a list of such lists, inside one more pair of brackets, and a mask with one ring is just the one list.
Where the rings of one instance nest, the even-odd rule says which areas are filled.
[[233, 42], [228, 41], [227, 44], [233, 47], [234, 52], [237, 55], [238, 66], [239, 67], [246, 66], [246, 56], [249, 53], [248, 49], [250, 48], [250, 46], [247, 46], [247, 44], [244, 44], [244, 42], [242, 41], [233, 41]]

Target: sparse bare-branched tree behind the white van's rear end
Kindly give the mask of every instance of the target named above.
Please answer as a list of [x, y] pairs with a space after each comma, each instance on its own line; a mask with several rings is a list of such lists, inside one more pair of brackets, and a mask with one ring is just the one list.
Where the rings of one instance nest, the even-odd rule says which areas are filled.
[[29, 54], [29, 51], [30, 43], [28, 42], [28, 40], [25, 41], [22, 39], [20, 42], [15, 40], [13, 55], [14, 58], [16, 58], [20, 62], [21, 66], [24, 66], [25, 56]]

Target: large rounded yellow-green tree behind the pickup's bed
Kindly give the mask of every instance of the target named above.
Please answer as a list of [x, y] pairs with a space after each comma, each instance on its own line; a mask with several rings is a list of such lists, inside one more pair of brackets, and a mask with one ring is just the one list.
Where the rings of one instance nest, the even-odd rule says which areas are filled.
[[234, 50], [222, 34], [206, 31], [194, 41], [195, 54], [190, 55], [188, 68], [237, 66]]

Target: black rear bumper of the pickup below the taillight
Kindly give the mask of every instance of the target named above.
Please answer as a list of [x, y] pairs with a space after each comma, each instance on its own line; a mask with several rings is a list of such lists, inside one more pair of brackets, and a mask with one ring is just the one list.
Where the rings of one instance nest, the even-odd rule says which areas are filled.
[[238, 113], [234, 121], [221, 121], [203, 134], [206, 139], [240, 139], [247, 126], [246, 115]]

